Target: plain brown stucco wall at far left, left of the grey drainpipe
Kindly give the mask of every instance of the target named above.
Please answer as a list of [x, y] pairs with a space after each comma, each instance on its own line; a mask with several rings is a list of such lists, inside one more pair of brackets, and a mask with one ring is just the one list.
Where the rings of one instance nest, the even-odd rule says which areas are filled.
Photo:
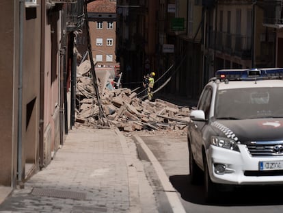
[[[14, 40], [15, 28], [14, 26], [14, 1], [2, 0], [0, 7], [5, 8], [0, 13], [0, 185], [12, 185], [14, 173], [16, 173], [16, 137], [17, 132], [16, 121], [17, 113], [14, 106], [17, 105], [18, 79], [14, 60], [18, 60], [17, 55], [14, 58], [14, 51], [17, 51], [17, 46], [14, 41], [17, 41], [18, 36]], [[18, 17], [17, 17], [18, 18]], [[8, 21], [9, 20], [9, 21]]]

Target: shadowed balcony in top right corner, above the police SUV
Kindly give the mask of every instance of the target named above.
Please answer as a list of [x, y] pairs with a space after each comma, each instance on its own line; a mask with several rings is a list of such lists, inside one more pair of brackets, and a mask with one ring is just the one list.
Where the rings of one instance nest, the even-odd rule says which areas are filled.
[[264, 10], [263, 25], [266, 27], [282, 28], [283, 27], [283, 13], [282, 0], [262, 0], [258, 1], [258, 5], [262, 6]]

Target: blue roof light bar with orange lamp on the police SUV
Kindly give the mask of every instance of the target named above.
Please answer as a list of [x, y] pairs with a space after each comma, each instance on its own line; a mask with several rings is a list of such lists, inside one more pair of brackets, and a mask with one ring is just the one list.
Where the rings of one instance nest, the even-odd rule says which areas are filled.
[[283, 79], [283, 68], [221, 69], [216, 72], [217, 79], [253, 80]]

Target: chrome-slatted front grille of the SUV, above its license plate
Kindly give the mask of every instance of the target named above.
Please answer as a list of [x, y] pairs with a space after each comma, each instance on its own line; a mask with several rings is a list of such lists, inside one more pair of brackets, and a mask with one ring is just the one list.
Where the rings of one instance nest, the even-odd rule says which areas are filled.
[[281, 156], [283, 155], [283, 141], [256, 141], [247, 144], [252, 156]]

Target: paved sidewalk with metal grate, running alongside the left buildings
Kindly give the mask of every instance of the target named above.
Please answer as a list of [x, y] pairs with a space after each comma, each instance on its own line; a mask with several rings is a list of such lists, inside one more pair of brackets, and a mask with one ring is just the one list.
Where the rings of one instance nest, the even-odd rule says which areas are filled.
[[51, 164], [0, 212], [142, 212], [137, 171], [118, 129], [74, 127]]

